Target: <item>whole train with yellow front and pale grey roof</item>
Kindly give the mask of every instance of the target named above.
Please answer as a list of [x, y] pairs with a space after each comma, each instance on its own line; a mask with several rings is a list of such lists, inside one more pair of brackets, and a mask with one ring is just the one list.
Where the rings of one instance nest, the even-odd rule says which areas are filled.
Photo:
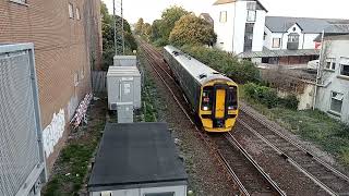
[[238, 85], [172, 46], [164, 47], [164, 60], [185, 94], [206, 132], [229, 132], [238, 110]]

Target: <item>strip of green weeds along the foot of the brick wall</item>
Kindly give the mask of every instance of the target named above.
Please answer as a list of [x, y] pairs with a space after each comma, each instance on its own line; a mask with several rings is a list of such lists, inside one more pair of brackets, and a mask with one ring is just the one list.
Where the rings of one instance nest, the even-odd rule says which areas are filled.
[[80, 195], [83, 184], [87, 182], [91, 159], [101, 137], [105, 127], [106, 102], [96, 103], [95, 110], [88, 111], [88, 124], [80, 127], [81, 136], [69, 139], [61, 150], [49, 182], [44, 187], [44, 196]]

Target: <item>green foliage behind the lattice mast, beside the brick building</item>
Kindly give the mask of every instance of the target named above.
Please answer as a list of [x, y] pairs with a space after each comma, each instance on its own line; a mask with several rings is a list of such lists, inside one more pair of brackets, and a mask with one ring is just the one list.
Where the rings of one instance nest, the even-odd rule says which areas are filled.
[[[103, 70], [107, 70], [109, 65], [113, 62], [112, 58], [115, 56], [115, 37], [113, 37], [113, 19], [112, 15], [108, 13], [108, 9], [104, 2], [101, 2], [100, 13], [103, 15], [101, 20], [101, 33], [103, 33]], [[118, 16], [120, 20], [120, 16]], [[123, 20], [123, 34], [125, 51], [131, 52], [137, 49], [136, 41], [132, 35], [131, 26], [127, 20]], [[121, 34], [117, 33], [117, 39], [121, 39]]]

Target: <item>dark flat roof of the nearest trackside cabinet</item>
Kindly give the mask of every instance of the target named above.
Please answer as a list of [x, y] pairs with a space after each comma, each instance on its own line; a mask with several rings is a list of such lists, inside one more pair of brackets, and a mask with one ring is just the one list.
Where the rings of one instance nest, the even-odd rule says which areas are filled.
[[186, 184], [166, 123], [106, 124], [88, 189], [147, 187], [171, 182]]

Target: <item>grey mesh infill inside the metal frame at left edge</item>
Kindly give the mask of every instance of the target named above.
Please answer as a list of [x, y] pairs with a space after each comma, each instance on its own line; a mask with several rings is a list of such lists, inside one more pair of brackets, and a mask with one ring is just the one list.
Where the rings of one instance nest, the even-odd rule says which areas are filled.
[[0, 195], [15, 195], [40, 164], [28, 51], [0, 53]]

